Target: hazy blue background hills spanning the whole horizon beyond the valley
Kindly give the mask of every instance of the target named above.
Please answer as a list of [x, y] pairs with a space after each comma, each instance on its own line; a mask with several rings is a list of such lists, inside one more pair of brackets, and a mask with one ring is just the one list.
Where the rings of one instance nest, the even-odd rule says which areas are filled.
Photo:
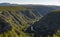
[[52, 10], [60, 10], [60, 6], [56, 5], [34, 5], [34, 4], [11, 4], [11, 3], [0, 3], [0, 6], [23, 6], [28, 9], [33, 9], [38, 12], [40, 15], [44, 16]]

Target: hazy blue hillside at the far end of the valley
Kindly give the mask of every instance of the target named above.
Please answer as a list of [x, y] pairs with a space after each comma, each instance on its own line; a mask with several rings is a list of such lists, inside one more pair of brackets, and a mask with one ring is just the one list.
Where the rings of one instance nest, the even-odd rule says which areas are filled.
[[45, 16], [50, 11], [60, 10], [60, 6], [54, 6], [54, 5], [24, 5], [24, 6], [37, 11], [42, 16]]

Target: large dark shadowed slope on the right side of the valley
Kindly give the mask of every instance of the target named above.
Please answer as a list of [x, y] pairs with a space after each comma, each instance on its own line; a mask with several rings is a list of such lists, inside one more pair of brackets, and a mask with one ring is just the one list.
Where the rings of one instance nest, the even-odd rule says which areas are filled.
[[57, 37], [60, 37], [60, 10], [48, 13], [39, 21], [35, 22], [32, 26], [29, 26], [25, 32], [33, 32], [36, 34], [34, 35], [35, 37], [39, 37], [40, 35], [42, 35], [42, 37], [48, 35], [53, 37], [53, 35], [58, 32], [56, 35], [58, 35]]

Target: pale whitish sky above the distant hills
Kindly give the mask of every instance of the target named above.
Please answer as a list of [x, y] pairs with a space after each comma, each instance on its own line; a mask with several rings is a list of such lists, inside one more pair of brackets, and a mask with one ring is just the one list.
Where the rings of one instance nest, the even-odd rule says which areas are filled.
[[60, 0], [0, 0], [0, 3], [59, 5]]

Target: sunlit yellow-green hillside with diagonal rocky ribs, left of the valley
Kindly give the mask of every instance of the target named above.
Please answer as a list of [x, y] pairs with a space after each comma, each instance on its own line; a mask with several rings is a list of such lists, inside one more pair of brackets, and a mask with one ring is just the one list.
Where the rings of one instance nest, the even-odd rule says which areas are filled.
[[0, 6], [0, 18], [12, 26], [11, 30], [8, 29], [8, 32], [1, 33], [0, 37], [30, 37], [22, 30], [38, 21], [41, 16], [26, 7]]

